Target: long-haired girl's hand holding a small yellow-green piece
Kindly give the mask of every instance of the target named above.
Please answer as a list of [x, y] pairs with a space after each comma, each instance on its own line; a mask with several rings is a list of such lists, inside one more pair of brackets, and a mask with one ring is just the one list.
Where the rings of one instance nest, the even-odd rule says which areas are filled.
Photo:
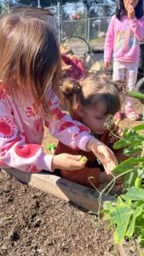
[[65, 169], [67, 171], [76, 171], [84, 168], [86, 161], [81, 162], [82, 155], [57, 154], [53, 157], [51, 167], [55, 169]]

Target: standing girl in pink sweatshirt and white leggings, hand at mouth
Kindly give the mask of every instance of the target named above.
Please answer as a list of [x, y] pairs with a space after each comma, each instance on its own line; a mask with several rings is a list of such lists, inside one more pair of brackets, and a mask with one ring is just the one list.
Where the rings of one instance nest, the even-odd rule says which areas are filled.
[[[104, 50], [104, 66], [110, 67], [113, 51], [113, 80], [126, 77], [126, 90], [135, 90], [139, 42], [144, 38], [143, 0], [118, 0], [116, 15], [108, 27]], [[133, 98], [127, 96], [125, 116], [131, 120], [139, 119], [140, 114], [133, 109]], [[121, 119], [121, 113], [116, 114]]]

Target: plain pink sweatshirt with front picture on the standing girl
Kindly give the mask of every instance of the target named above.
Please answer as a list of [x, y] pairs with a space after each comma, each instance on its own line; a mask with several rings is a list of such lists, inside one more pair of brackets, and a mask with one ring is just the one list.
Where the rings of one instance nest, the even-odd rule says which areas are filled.
[[140, 20], [129, 20], [122, 16], [121, 21], [112, 16], [104, 48], [104, 61], [137, 62], [140, 55], [140, 44], [144, 38], [144, 16]]

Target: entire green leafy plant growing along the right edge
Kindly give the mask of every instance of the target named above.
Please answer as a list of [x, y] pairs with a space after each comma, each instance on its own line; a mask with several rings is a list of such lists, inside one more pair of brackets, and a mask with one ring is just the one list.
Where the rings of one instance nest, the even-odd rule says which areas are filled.
[[[124, 175], [126, 194], [115, 202], [104, 203], [105, 219], [115, 226], [114, 240], [120, 244], [124, 237], [136, 236], [144, 247], [144, 124], [132, 130], [125, 129], [114, 148], [124, 148], [125, 155], [135, 155], [124, 160], [112, 171], [117, 177]], [[111, 182], [112, 183], [112, 182]]]

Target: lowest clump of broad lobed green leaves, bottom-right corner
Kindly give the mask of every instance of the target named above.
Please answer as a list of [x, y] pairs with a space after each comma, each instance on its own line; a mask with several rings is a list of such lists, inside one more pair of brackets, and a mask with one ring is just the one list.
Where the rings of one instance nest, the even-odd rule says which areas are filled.
[[118, 196], [113, 203], [105, 202], [106, 217], [115, 226], [114, 240], [120, 244], [124, 237], [130, 238], [135, 234], [143, 247], [144, 245], [144, 189], [131, 187], [125, 194]]

